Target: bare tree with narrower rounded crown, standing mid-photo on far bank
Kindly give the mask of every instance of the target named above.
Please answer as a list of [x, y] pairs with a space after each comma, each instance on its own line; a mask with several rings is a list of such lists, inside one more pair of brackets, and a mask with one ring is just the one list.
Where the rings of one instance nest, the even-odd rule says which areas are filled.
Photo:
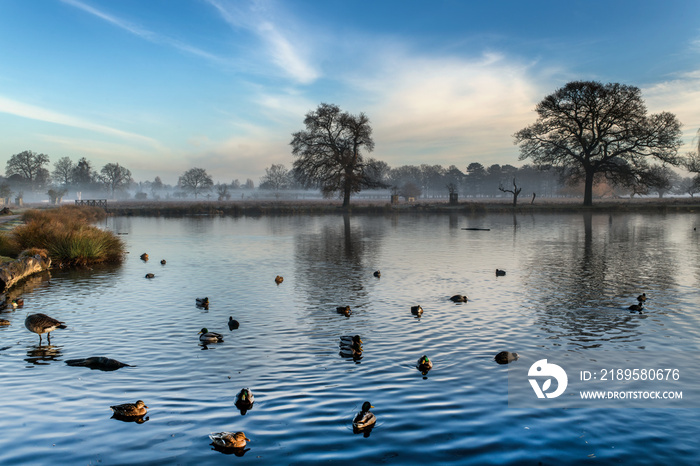
[[297, 180], [305, 187], [320, 186], [325, 196], [342, 193], [343, 207], [350, 195], [363, 188], [385, 185], [374, 179], [373, 159], [365, 160], [362, 150], [372, 152], [372, 127], [364, 113], [351, 115], [337, 105], [322, 103], [306, 114], [306, 130], [292, 136], [292, 154]]

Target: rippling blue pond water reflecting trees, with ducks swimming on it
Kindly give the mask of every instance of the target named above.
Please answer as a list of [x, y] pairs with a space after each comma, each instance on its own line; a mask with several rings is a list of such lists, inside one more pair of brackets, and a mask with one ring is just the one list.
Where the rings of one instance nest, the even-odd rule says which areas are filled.
[[[697, 464], [697, 407], [512, 408], [508, 372], [524, 366], [494, 361], [504, 350], [697, 354], [697, 223], [598, 213], [109, 218], [101, 226], [129, 251], [122, 265], [32, 277], [16, 291], [24, 307], [0, 315], [10, 321], [0, 327], [0, 463]], [[630, 313], [642, 292], [645, 312]], [[195, 306], [203, 297], [208, 308]], [[67, 328], [40, 344], [24, 327], [34, 313]], [[224, 341], [202, 345], [204, 327]], [[361, 358], [339, 354], [345, 335], [361, 336]], [[424, 354], [434, 363], [425, 375]], [[131, 367], [66, 364], [92, 356]], [[244, 387], [255, 404], [242, 414]], [[139, 399], [149, 407], [140, 422], [112, 418], [110, 406]], [[355, 433], [366, 400], [377, 422]], [[215, 449], [209, 434], [220, 431], [245, 432], [246, 450]]]

